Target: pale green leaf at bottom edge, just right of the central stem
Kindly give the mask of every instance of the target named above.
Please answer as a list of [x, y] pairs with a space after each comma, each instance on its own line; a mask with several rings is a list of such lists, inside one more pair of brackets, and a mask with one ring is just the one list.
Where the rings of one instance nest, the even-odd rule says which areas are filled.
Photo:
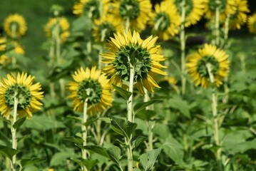
[[158, 155], [160, 154], [161, 149], [155, 149], [151, 150], [147, 153], [144, 153], [143, 155], [140, 155], [140, 165], [143, 167], [144, 171], [151, 170], [152, 167], [155, 165], [155, 162], [158, 158]]

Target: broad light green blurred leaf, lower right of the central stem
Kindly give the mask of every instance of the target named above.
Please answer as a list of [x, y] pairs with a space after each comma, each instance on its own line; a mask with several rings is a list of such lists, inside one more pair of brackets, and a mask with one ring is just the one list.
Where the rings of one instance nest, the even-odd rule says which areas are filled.
[[163, 148], [163, 152], [165, 152], [165, 154], [168, 155], [168, 157], [170, 157], [174, 162], [180, 166], [183, 165], [184, 150], [183, 146], [180, 145], [180, 142], [169, 135], [161, 147]]

